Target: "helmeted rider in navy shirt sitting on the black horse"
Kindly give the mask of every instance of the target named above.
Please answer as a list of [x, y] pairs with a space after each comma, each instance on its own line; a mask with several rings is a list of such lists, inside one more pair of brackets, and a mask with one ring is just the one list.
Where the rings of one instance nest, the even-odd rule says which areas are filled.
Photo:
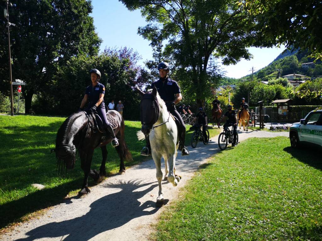
[[106, 109], [104, 103], [105, 86], [99, 83], [100, 77], [101, 73], [98, 69], [90, 70], [90, 78], [92, 84], [86, 87], [85, 95], [83, 100], [81, 101], [81, 106], [79, 110], [82, 111], [85, 104], [89, 102], [85, 111], [88, 111], [90, 109], [92, 109], [93, 111], [97, 111], [99, 117], [103, 121], [103, 126], [106, 134], [110, 134], [112, 137], [112, 146], [116, 147], [118, 146], [118, 139], [115, 137], [113, 128], [111, 127], [109, 121], [106, 118]]

